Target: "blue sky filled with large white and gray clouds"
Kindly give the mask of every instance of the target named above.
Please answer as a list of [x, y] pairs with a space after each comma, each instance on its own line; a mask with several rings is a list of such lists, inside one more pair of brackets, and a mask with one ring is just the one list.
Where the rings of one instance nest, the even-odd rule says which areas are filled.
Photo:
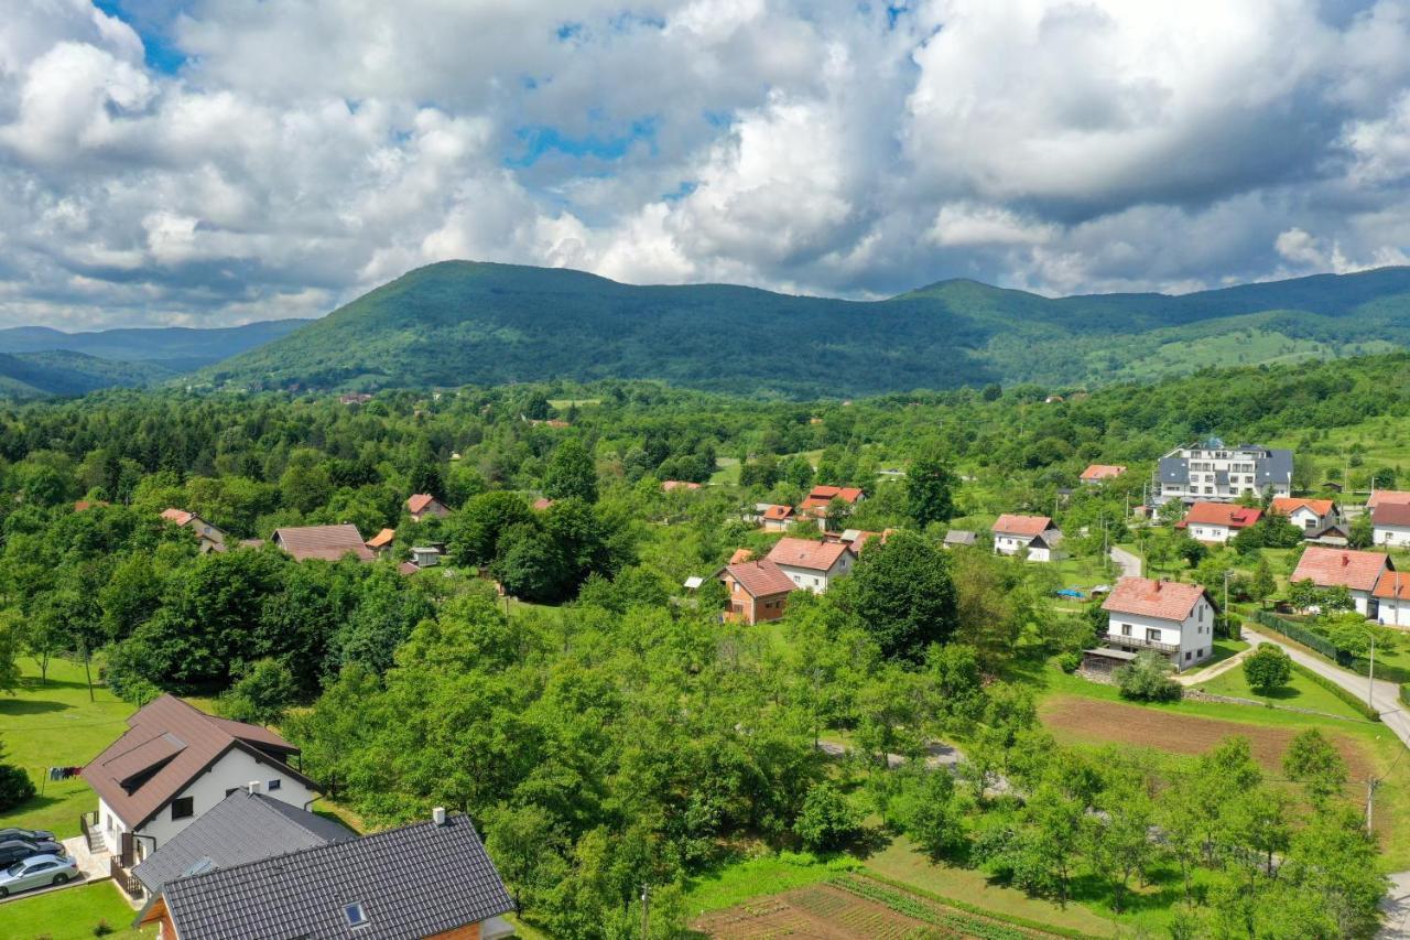
[[1410, 263], [1410, 0], [4, 0], [0, 325]]

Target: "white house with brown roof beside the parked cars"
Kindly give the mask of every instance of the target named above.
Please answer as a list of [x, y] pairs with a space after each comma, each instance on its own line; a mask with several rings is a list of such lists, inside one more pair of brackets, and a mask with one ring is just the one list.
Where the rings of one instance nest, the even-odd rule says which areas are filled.
[[[289, 765], [298, 757], [299, 748], [274, 731], [161, 696], [83, 768], [97, 793], [97, 810], [85, 814], [89, 845], [111, 852], [127, 872], [252, 781], [276, 800], [307, 806], [317, 790]], [[123, 884], [128, 893], [140, 891], [133, 878]]]

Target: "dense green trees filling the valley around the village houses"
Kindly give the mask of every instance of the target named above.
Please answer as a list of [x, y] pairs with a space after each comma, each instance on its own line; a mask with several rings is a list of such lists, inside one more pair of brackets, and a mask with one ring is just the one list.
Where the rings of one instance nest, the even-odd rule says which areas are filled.
[[[643, 885], [653, 936], [678, 936], [701, 872], [750, 845], [838, 851], [867, 819], [1059, 903], [1097, 892], [1122, 912], [1177, 871], [1176, 936], [1371, 936], [1376, 844], [1325, 741], [1299, 738], [1293, 789], [1239, 740], [1175, 771], [1060, 747], [1032, 676], [1091, 645], [1100, 610], [1055, 613], [1045, 566], [939, 542], [964, 519], [1059, 505], [1074, 545], [1122, 538], [1153, 459], [1210, 433], [1296, 438], [1306, 487], [1352, 464], [1393, 477], [1325, 438], [1407, 416], [1406, 354], [1066, 401], [991, 384], [761, 402], [603, 381], [10, 406], [0, 658], [76, 658], [133, 703], [212, 696], [278, 724], [374, 826], [468, 812], [554, 936], [639, 936]], [[1134, 473], [1070, 491], [1097, 459]], [[818, 483], [870, 491], [829, 526], [895, 531], [853, 577], [795, 594], [771, 631], [721, 622], [712, 580], [682, 590], [776, 538], [746, 521], [754, 502]], [[413, 522], [413, 493], [450, 515]], [[230, 549], [199, 553], [168, 507]], [[235, 546], [321, 522], [393, 528], [396, 548], [300, 563]], [[447, 565], [398, 570], [433, 543]], [[849, 742], [840, 764], [825, 734]], [[925, 768], [935, 740], [963, 742], [956, 776]]]

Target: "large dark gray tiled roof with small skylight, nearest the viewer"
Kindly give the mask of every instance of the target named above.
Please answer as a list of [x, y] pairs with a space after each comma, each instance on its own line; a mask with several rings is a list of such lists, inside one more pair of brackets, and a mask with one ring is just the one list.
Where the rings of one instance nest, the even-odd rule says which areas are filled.
[[[162, 896], [180, 940], [402, 940], [515, 909], [462, 814], [178, 878]], [[354, 903], [368, 920], [357, 930]]]

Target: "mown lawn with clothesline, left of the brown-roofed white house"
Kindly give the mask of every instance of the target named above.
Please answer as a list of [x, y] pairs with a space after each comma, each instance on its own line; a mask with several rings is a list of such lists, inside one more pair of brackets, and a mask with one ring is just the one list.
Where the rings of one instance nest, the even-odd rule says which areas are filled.
[[[51, 782], [51, 766], [80, 766], [127, 730], [133, 706], [102, 686], [89, 701], [83, 663], [55, 659], [39, 685], [32, 659], [21, 658], [23, 677], [14, 694], [0, 694], [0, 742], [6, 759], [23, 766], [42, 792], [8, 813], [0, 826], [48, 828], [61, 838], [78, 836], [79, 813], [97, 807], [93, 790], [79, 778]], [[0, 936], [11, 936], [0, 930]]]

